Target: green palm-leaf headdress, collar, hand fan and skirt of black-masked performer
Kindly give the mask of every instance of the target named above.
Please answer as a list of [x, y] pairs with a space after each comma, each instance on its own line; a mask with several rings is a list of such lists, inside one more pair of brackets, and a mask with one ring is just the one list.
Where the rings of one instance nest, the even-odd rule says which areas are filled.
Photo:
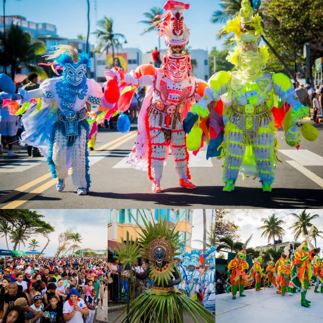
[[[131, 264], [130, 260], [137, 257], [141, 251], [144, 257], [148, 258], [151, 262], [151, 279], [157, 282], [160, 287], [146, 289], [144, 293], [135, 298], [130, 303], [130, 312], [122, 319], [121, 323], [126, 323], [128, 320], [131, 323], [141, 323], [141, 318], [149, 323], [184, 323], [184, 310], [193, 318], [195, 323], [214, 323], [215, 316], [203, 306], [183, 295], [179, 290], [163, 287], [168, 284], [168, 280], [171, 279], [175, 270], [178, 272], [173, 257], [181, 254], [176, 251], [181, 248], [182, 241], [180, 241], [178, 231], [175, 230], [176, 225], [171, 230], [171, 224], [168, 224], [167, 221], [162, 221], [160, 216], [158, 216], [158, 224], [148, 222], [145, 217], [141, 216], [144, 224], [144, 226], [141, 226], [134, 217], [132, 218], [139, 227], [137, 232], [140, 238], [138, 242], [135, 241], [135, 244], [140, 244], [140, 246], [137, 248], [135, 244], [133, 245], [132, 251], [136, 253], [135, 255], [130, 254], [130, 248], [127, 248], [128, 244], [123, 250], [119, 248], [115, 252], [119, 255], [118, 259], [124, 259]], [[140, 230], [142, 233], [139, 232]], [[166, 265], [162, 268], [156, 266], [153, 257], [153, 250], [158, 246], [162, 246], [166, 251], [164, 258]], [[180, 276], [179, 272], [178, 275]], [[123, 310], [114, 322], [125, 311], [126, 309]]]

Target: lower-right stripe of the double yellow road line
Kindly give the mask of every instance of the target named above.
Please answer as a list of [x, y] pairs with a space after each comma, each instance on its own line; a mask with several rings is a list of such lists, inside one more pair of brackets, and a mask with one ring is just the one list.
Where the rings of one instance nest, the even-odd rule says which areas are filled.
[[[128, 133], [129, 134], [129, 133]], [[118, 148], [119, 146], [121, 146], [122, 144], [124, 144], [125, 142], [129, 141], [130, 139], [134, 138], [137, 135], [137, 131], [135, 132], [131, 132], [130, 136], [122, 136], [122, 138], [124, 138], [123, 140], [119, 141], [118, 143], [114, 144], [113, 146], [111, 146], [110, 148], [106, 149], [105, 151], [107, 153], [105, 153], [105, 155], [109, 155], [111, 151], [113, 151], [114, 149]], [[107, 145], [103, 145], [103, 146], [107, 146]], [[102, 146], [101, 146], [102, 147]], [[100, 147], [100, 148], [101, 148]], [[101, 151], [102, 153], [102, 151]], [[95, 156], [93, 156], [95, 157]], [[102, 156], [102, 158], [105, 156]], [[90, 156], [91, 158], [91, 156]], [[93, 161], [93, 163], [91, 164], [95, 164], [96, 162], [98, 162], [99, 160], [101, 160], [102, 158], [99, 158], [95, 161]], [[68, 171], [68, 175], [70, 175], [72, 173], [72, 170]], [[20, 206], [21, 204], [27, 202], [28, 200], [32, 199], [34, 196], [43, 193], [44, 191], [46, 191], [48, 188], [50, 188], [51, 186], [55, 185], [57, 182], [57, 179], [52, 179], [46, 183], [44, 183], [43, 185], [35, 188], [33, 191], [24, 194], [23, 196], [19, 197], [17, 200], [12, 201], [8, 204], [6, 204], [5, 206], [3, 206], [1, 209], [15, 209], [18, 206]], [[21, 193], [21, 192], [19, 192]]]

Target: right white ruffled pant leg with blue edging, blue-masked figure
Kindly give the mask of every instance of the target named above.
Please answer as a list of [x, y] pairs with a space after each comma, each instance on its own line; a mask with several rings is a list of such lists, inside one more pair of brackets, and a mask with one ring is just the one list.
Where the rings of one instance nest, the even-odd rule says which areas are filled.
[[76, 189], [87, 188], [86, 181], [86, 130], [82, 129], [71, 147], [72, 181]]

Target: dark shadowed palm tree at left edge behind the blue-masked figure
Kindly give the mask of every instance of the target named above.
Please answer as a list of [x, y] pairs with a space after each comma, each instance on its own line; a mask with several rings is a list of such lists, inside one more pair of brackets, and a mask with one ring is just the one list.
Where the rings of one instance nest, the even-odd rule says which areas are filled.
[[47, 78], [44, 69], [37, 65], [44, 61], [41, 54], [46, 51], [45, 43], [39, 39], [32, 41], [31, 34], [18, 25], [12, 24], [5, 33], [0, 32], [0, 65], [6, 61], [11, 66], [11, 78], [15, 79], [18, 67], [26, 67], [38, 76]]

